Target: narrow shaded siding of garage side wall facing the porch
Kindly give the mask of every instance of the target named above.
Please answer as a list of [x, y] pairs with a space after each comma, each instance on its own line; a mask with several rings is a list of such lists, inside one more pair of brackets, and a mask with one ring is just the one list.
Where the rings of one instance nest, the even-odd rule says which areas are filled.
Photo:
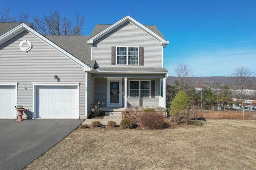
[[90, 115], [92, 108], [91, 104], [95, 104], [95, 99], [94, 99], [94, 93], [95, 93], [95, 78], [92, 77], [92, 74], [88, 72], [88, 78], [87, 78], [87, 108], [88, 108], [88, 113], [87, 116]]

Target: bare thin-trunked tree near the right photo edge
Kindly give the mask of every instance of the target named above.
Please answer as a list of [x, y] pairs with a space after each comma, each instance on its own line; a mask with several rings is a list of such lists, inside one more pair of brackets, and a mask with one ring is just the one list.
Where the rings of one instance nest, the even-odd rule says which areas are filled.
[[243, 111], [243, 119], [244, 119], [244, 97], [246, 95], [246, 91], [252, 87], [252, 80], [255, 74], [246, 66], [240, 66], [234, 68], [232, 74], [230, 75], [230, 81], [232, 82], [232, 86], [236, 94], [239, 96], [242, 102], [242, 111]]

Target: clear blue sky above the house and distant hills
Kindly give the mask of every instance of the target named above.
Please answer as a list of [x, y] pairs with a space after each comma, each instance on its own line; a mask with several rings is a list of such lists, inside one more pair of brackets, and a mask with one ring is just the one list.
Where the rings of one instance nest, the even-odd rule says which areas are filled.
[[229, 76], [247, 66], [256, 71], [256, 0], [4, 0], [0, 10], [42, 16], [57, 10], [74, 19], [86, 15], [84, 35], [94, 26], [112, 24], [129, 15], [143, 25], [156, 25], [169, 45], [164, 49], [164, 67], [185, 63], [194, 76]]

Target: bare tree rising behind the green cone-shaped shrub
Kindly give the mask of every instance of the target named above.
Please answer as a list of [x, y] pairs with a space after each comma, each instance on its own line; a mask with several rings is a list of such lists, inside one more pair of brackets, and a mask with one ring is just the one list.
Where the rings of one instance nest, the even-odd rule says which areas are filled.
[[190, 84], [189, 78], [193, 76], [194, 70], [192, 70], [186, 63], [178, 63], [174, 66], [174, 72], [178, 77], [180, 90], [186, 92]]

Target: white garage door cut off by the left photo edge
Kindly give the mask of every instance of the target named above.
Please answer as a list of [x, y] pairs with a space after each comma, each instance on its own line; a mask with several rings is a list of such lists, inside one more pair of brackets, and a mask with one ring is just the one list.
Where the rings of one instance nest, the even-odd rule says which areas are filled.
[[16, 86], [0, 86], [0, 118], [16, 119]]

